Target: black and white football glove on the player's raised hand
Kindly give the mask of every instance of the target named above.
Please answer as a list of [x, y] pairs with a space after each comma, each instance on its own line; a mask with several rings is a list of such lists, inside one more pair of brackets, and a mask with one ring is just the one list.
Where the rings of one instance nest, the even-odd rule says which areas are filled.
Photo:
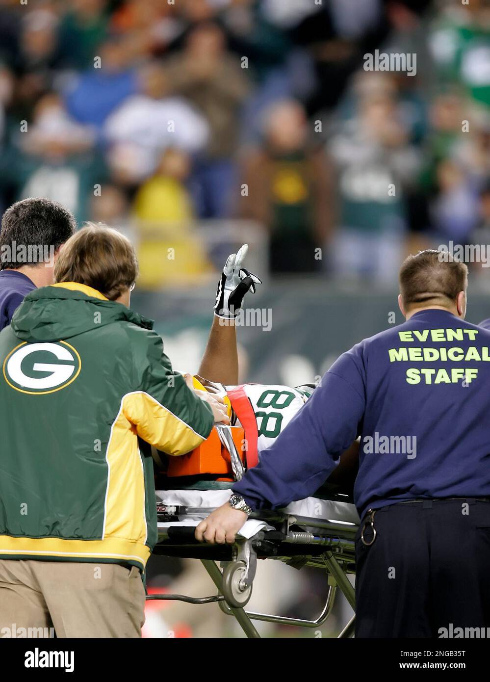
[[237, 254], [228, 256], [216, 290], [215, 315], [218, 317], [236, 318], [247, 291], [256, 293], [256, 284], [262, 284], [260, 278], [242, 267], [247, 251], [248, 244], [243, 244]]

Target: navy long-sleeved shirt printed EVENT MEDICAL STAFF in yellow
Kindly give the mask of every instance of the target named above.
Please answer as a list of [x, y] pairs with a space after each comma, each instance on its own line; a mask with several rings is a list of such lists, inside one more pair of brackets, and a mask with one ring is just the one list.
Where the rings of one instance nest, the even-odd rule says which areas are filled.
[[254, 509], [307, 497], [360, 435], [361, 518], [403, 500], [490, 497], [489, 386], [490, 331], [420, 311], [343, 353], [233, 490]]

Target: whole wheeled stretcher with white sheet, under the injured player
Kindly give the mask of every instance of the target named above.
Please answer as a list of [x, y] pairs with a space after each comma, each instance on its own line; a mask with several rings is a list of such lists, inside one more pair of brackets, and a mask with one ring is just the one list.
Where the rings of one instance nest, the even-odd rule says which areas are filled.
[[[221, 430], [221, 429], [220, 429]], [[233, 434], [235, 435], [235, 434]], [[241, 457], [233, 453], [233, 441], [220, 434], [228, 451], [228, 480], [211, 475], [189, 475], [189, 461], [182, 463], [183, 476], [157, 480], [158, 542], [155, 554], [202, 562], [217, 587], [211, 597], [151, 595], [151, 599], [177, 599], [192, 604], [217, 602], [222, 612], [233, 616], [249, 638], [259, 637], [252, 621], [318, 628], [331, 615], [337, 590], [354, 610], [354, 588], [349, 575], [355, 574], [354, 536], [359, 518], [352, 496], [339, 486], [326, 484], [315, 496], [293, 502], [284, 509], [262, 509], [251, 514], [233, 545], [200, 543], [194, 537], [198, 523], [213, 509], [226, 503], [239, 471]], [[230, 450], [232, 451], [230, 453]], [[202, 451], [193, 455], [200, 458]], [[179, 473], [179, 471], [177, 471]], [[222, 472], [221, 472], [222, 473]], [[163, 481], [163, 484], [162, 484]], [[317, 567], [326, 573], [326, 600], [314, 620], [295, 619], [246, 610], [260, 560], [282, 561], [296, 569]], [[219, 562], [219, 565], [217, 565]], [[340, 638], [352, 637], [354, 617], [343, 627]]]

